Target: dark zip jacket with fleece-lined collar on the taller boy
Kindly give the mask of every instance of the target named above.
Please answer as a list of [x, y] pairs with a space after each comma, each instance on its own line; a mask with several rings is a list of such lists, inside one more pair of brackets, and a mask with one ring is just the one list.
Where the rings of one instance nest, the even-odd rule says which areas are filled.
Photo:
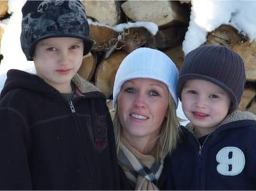
[[98, 88], [76, 75], [67, 101], [10, 70], [0, 101], [1, 190], [120, 190], [113, 124]]

